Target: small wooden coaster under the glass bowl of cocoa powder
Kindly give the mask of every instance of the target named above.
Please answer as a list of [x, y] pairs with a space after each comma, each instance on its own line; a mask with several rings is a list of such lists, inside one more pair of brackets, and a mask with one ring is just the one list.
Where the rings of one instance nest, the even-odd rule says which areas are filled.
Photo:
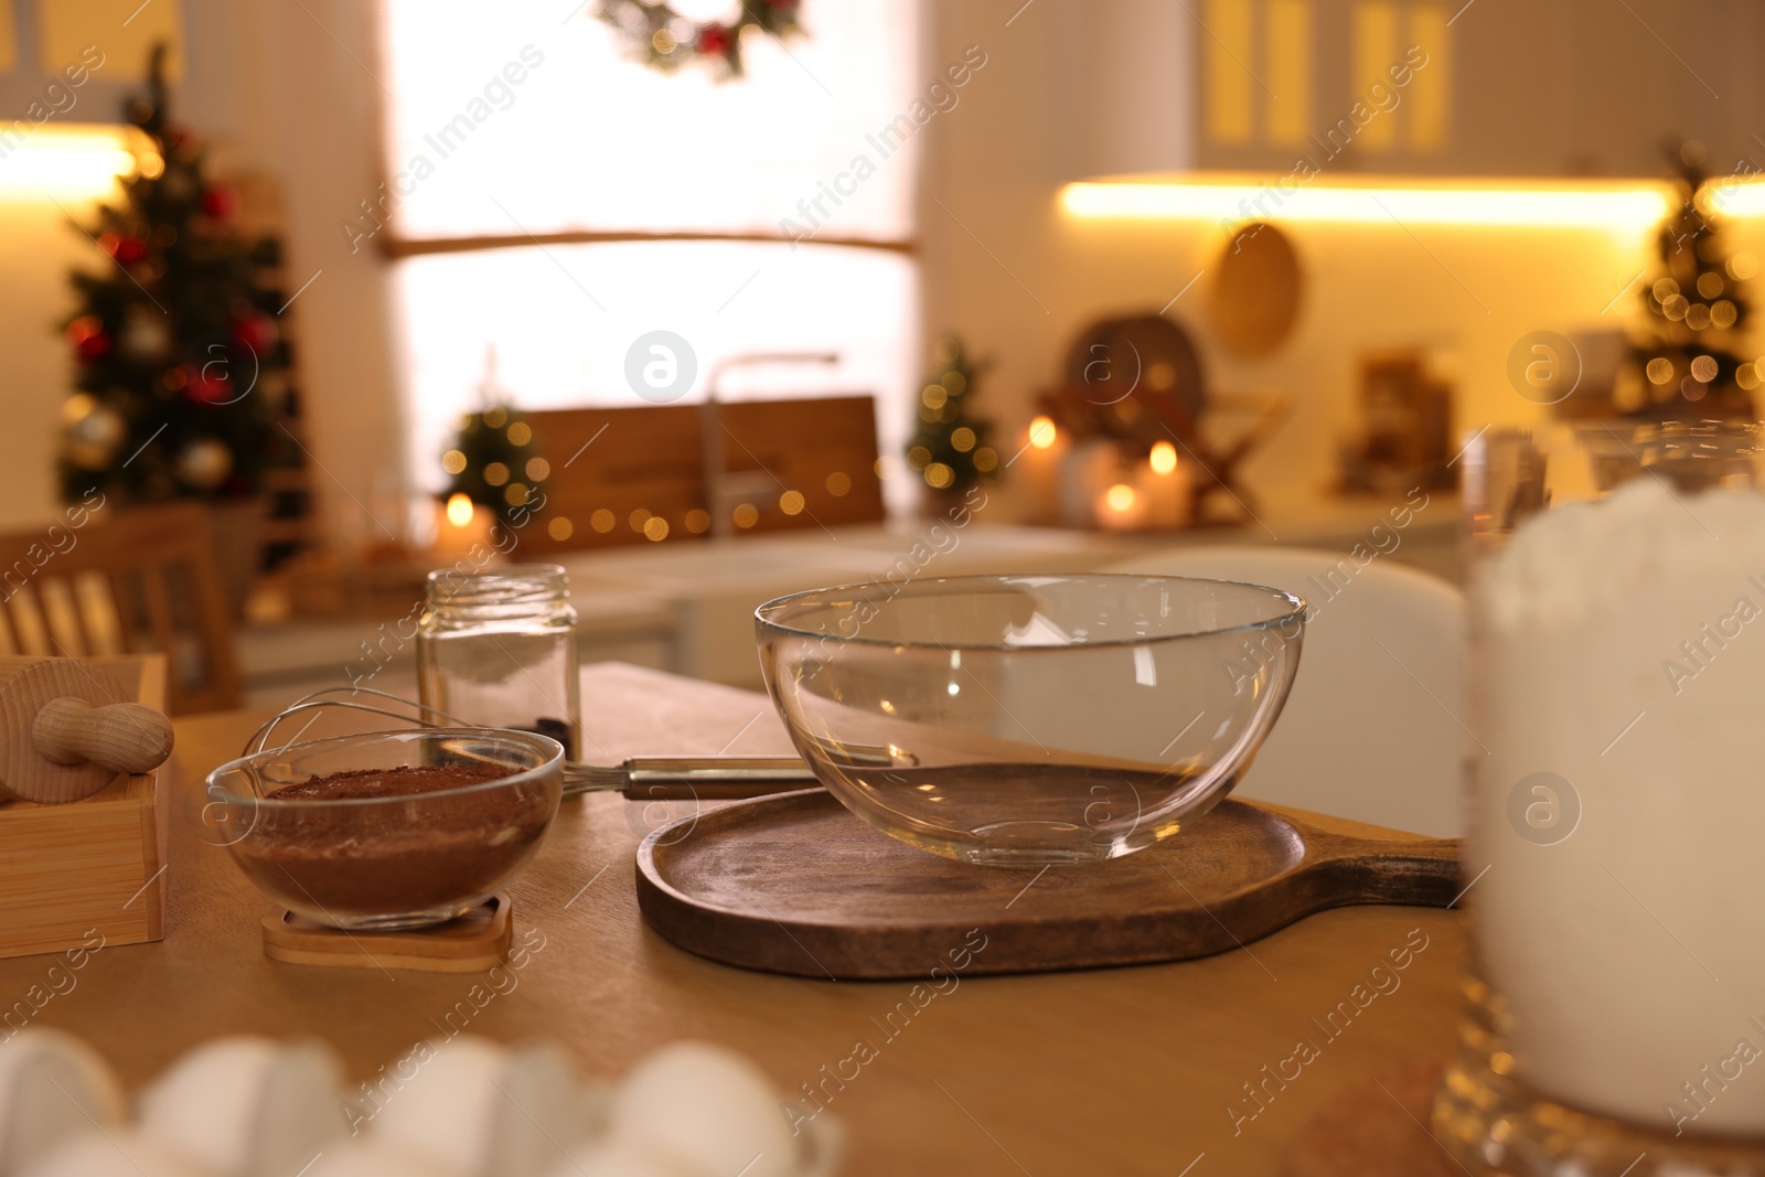
[[263, 918], [263, 955], [291, 965], [484, 972], [508, 960], [514, 905], [496, 895], [459, 919], [411, 932], [344, 932], [281, 912]]

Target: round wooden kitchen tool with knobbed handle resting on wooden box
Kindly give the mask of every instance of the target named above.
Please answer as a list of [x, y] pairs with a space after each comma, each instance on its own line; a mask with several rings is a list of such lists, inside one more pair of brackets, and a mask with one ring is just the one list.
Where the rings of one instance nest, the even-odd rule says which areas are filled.
[[0, 658], [0, 799], [60, 805], [171, 755], [171, 722], [74, 658]]

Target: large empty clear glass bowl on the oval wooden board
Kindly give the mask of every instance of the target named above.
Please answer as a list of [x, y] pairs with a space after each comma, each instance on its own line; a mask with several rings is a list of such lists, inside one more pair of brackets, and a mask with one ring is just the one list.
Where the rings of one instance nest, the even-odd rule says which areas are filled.
[[1220, 803], [1281, 711], [1306, 603], [1230, 581], [881, 581], [755, 612], [766, 686], [849, 810], [973, 863], [1107, 859]]

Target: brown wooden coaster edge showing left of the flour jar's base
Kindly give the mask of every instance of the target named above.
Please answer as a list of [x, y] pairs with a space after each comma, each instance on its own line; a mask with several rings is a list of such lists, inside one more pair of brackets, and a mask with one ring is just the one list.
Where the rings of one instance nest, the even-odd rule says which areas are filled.
[[1458, 1177], [1428, 1128], [1442, 1075], [1417, 1062], [1348, 1087], [1294, 1133], [1283, 1177]]

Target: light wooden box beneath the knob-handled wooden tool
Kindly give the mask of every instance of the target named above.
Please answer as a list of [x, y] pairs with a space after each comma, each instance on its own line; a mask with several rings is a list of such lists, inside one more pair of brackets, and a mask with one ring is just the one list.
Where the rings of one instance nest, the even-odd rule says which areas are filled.
[[[86, 662], [164, 709], [164, 655]], [[168, 768], [69, 805], [0, 803], [0, 956], [164, 939]]]

